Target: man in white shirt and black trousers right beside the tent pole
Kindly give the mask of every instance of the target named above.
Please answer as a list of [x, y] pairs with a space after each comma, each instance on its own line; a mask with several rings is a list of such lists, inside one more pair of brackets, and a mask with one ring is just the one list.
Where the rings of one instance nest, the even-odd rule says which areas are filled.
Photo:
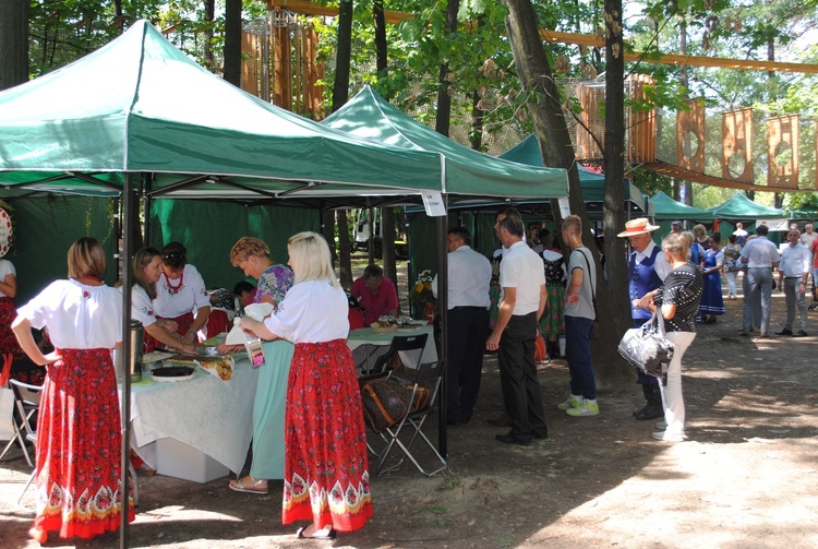
[[[446, 421], [471, 419], [480, 392], [483, 349], [489, 335], [489, 284], [492, 266], [471, 249], [471, 235], [464, 227], [449, 229], [448, 240], [448, 355], [446, 356]], [[432, 281], [437, 297], [437, 276]]]

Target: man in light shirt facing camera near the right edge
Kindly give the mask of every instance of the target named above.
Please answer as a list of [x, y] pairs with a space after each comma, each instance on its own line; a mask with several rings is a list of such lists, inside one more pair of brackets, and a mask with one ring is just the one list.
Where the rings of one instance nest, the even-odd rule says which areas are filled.
[[[781, 252], [779, 264], [779, 287], [786, 298], [786, 323], [783, 330], [775, 335], [792, 335], [794, 337], [807, 336], [807, 301], [804, 298], [807, 291], [807, 279], [811, 255], [806, 246], [799, 241], [798, 229], [790, 229], [786, 240], [790, 246]], [[795, 308], [801, 313], [799, 330], [793, 333], [793, 321], [795, 320]]]

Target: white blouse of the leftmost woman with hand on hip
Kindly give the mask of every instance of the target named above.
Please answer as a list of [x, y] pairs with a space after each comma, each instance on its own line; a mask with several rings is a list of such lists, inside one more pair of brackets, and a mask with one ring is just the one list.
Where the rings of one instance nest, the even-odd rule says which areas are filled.
[[47, 326], [57, 348], [112, 349], [122, 341], [122, 294], [110, 286], [55, 281], [17, 314], [37, 330]]

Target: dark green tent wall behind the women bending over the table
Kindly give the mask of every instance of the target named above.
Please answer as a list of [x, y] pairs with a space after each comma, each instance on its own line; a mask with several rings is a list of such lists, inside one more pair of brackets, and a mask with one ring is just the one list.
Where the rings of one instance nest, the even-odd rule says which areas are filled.
[[302, 230], [320, 231], [321, 212], [168, 199], [151, 204], [149, 223], [151, 246], [161, 249], [168, 242], [182, 242], [188, 249], [188, 262], [202, 273], [207, 288], [232, 290], [239, 281], [255, 284], [230, 264], [230, 249], [239, 238], [249, 236], [264, 240], [270, 259], [287, 263], [287, 240]]

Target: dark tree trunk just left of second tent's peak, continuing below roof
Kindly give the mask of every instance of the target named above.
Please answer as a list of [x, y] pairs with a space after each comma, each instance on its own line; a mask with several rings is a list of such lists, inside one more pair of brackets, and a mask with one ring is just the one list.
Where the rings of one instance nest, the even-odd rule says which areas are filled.
[[[352, 0], [341, 0], [338, 5], [338, 49], [335, 55], [335, 82], [333, 83], [333, 112], [349, 99], [349, 65], [352, 55]], [[340, 282], [352, 287], [352, 259], [349, 243], [347, 212], [338, 211], [338, 263]]]

